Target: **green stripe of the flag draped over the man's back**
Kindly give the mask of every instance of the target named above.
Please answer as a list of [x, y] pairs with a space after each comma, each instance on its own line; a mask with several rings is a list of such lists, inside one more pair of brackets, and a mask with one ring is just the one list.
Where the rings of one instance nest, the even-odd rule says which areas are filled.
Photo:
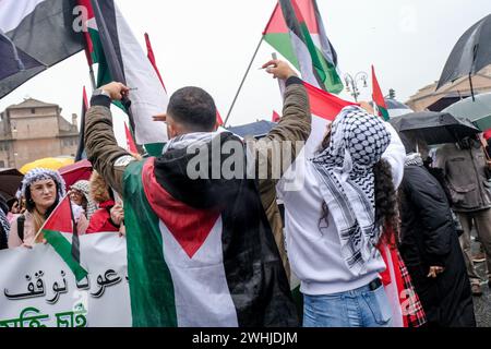
[[178, 322], [172, 277], [164, 258], [159, 219], [143, 190], [143, 165], [144, 161], [130, 164], [123, 179], [133, 326], [176, 327]]

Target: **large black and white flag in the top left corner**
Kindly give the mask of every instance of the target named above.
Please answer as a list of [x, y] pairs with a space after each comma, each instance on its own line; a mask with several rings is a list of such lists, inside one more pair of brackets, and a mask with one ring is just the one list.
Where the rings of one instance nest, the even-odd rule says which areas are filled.
[[0, 98], [83, 50], [72, 0], [0, 0]]

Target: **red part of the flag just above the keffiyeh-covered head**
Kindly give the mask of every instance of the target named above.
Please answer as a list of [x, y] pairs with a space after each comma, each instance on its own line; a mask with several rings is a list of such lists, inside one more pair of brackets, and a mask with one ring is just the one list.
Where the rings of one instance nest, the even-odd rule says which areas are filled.
[[312, 115], [322, 119], [333, 121], [343, 108], [358, 106], [358, 104], [340, 99], [323, 89], [303, 82], [309, 95], [310, 110]]

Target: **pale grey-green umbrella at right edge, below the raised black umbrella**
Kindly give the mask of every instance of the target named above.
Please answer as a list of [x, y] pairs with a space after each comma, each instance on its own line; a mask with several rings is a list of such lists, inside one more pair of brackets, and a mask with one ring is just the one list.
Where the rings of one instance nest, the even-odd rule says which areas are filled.
[[476, 100], [463, 99], [443, 111], [460, 119], [469, 119], [481, 131], [486, 131], [491, 129], [491, 93], [477, 95]]

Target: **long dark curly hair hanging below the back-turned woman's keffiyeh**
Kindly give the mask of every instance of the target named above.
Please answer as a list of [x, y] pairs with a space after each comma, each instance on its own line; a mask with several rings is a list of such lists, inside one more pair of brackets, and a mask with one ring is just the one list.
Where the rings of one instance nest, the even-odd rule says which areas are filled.
[[[324, 151], [331, 142], [331, 132], [328, 132], [321, 143], [319, 152]], [[397, 241], [398, 236], [398, 201], [392, 177], [391, 164], [384, 159], [380, 159], [373, 166], [373, 174], [375, 177], [375, 225], [383, 229], [380, 241], [391, 243]], [[319, 220], [319, 228], [328, 226], [327, 216], [328, 207], [325, 202], [322, 203], [322, 216]]]

